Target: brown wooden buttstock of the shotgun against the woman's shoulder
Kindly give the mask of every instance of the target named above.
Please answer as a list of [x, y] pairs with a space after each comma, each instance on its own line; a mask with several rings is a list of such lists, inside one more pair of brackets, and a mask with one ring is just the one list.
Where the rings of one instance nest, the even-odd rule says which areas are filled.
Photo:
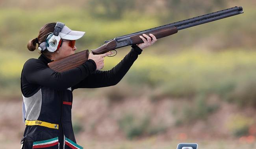
[[48, 63], [48, 67], [56, 72], [63, 72], [76, 68], [88, 60], [89, 50], [83, 50], [60, 60]]

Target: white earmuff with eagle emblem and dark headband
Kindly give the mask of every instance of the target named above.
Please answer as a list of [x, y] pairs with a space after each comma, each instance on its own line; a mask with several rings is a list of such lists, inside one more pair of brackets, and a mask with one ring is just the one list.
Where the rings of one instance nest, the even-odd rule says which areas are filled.
[[59, 47], [61, 47], [61, 36], [59, 36], [59, 32], [63, 29], [65, 24], [61, 22], [57, 22], [54, 27], [54, 33], [50, 33], [50, 35], [46, 36], [46, 49], [50, 52], [58, 51]]

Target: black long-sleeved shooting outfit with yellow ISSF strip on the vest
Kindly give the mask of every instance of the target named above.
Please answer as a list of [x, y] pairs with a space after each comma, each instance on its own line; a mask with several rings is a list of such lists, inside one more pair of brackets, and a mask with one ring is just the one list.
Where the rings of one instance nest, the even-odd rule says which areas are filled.
[[21, 142], [23, 149], [82, 148], [76, 144], [72, 129], [72, 91], [117, 84], [141, 52], [132, 45], [124, 59], [109, 71], [96, 70], [95, 62], [87, 60], [77, 68], [58, 73], [47, 67], [51, 60], [43, 54], [28, 60], [21, 73], [26, 124]]

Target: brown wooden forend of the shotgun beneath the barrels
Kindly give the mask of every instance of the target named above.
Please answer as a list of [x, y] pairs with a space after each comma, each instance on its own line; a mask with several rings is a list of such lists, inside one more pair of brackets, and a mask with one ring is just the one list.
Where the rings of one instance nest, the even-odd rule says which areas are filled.
[[[162, 27], [161, 29], [152, 29], [152, 30], [149, 30], [148, 32], [143, 32], [143, 34], [146, 34], [148, 36], [149, 34], [153, 34], [154, 36], [156, 36], [156, 39], [159, 39], [159, 38], [173, 35], [177, 32], [178, 32], [178, 29], [175, 26], [166, 26], [166, 27]], [[139, 36], [142, 36], [142, 33], [139, 35], [131, 36], [133, 44], [143, 43], [143, 40], [139, 38]]]

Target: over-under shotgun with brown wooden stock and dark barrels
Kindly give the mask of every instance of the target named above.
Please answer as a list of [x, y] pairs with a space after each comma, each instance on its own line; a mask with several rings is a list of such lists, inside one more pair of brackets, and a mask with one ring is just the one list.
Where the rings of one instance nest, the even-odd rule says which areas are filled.
[[[182, 20], [179, 22], [174, 22], [174, 23], [162, 25], [159, 27], [154, 27], [152, 29], [147, 29], [144, 31], [139, 31], [136, 33], [128, 34], [128, 35], [119, 36], [112, 40], [105, 41], [104, 45], [91, 51], [94, 54], [103, 54], [127, 45], [143, 43], [143, 40], [139, 38], [139, 36], [142, 34], [149, 35], [151, 33], [154, 36], [156, 36], [157, 39], [159, 39], [159, 38], [173, 35], [177, 33], [178, 30], [181, 30], [181, 29], [186, 29], [188, 27], [193, 27], [196, 25], [212, 22], [212, 21], [227, 18], [230, 16], [239, 15], [241, 13], [243, 13], [243, 7], [241, 6], [224, 9], [214, 13], [209, 13], [206, 15], [190, 18], [187, 20]], [[73, 55], [67, 56], [63, 59], [50, 62], [48, 64], [48, 67], [53, 69], [56, 72], [63, 72], [69, 69], [73, 69], [83, 64], [88, 59], [88, 55], [89, 55], [89, 50], [87, 49], [87, 50], [75, 53]]]

